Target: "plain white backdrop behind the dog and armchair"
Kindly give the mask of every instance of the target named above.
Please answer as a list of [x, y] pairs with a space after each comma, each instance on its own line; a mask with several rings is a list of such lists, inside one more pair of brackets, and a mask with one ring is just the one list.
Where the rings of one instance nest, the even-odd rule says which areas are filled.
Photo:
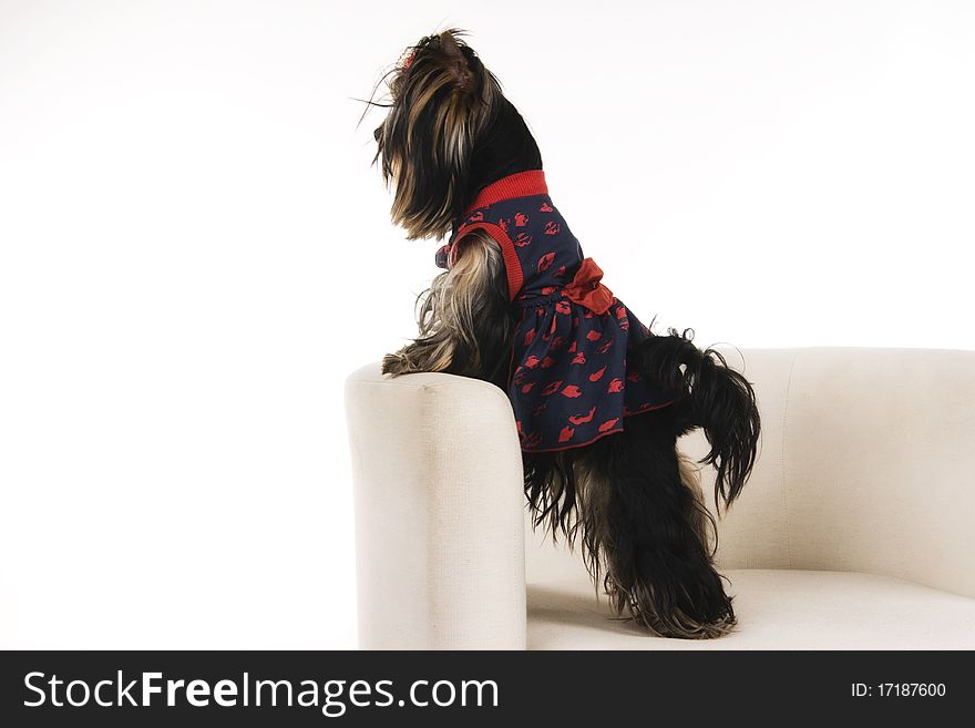
[[355, 647], [342, 381], [438, 244], [352, 98], [429, 32], [656, 328], [975, 348], [975, 4], [579, 4], [0, 0], [0, 646]]

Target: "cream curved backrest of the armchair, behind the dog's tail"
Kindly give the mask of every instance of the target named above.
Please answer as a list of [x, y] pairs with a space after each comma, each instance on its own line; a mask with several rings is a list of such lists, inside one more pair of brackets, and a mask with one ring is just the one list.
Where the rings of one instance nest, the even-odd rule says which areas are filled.
[[[720, 522], [721, 564], [885, 574], [975, 596], [975, 351], [742, 353], [763, 438]], [[699, 433], [680, 445], [707, 447]]]

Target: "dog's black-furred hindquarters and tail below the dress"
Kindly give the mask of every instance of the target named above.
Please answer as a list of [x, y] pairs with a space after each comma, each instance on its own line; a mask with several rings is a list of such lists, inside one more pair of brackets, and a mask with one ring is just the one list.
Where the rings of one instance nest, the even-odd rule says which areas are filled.
[[[632, 416], [622, 433], [586, 448], [523, 453], [535, 525], [581, 543], [593, 578], [618, 612], [655, 634], [704, 638], [736, 624], [714, 566], [714, 517], [681, 479], [677, 439], [701, 428], [702, 462], [718, 471], [715, 498], [727, 507], [756, 457], [760, 417], [751, 386], [719, 352], [700, 351], [688, 332], [654, 336], [632, 350], [647, 377], [682, 388], [674, 404]], [[708, 409], [714, 407], [714, 409]]]

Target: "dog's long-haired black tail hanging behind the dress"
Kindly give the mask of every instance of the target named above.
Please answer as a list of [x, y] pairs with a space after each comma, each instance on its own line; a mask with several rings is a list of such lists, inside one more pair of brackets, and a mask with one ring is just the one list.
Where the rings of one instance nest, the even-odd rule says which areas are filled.
[[701, 351], [692, 338], [692, 329], [678, 334], [671, 328], [667, 336], [647, 338], [632, 356], [644, 376], [684, 392], [670, 406], [676, 434], [704, 430], [711, 449], [700, 462], [717, 470], [715, 507], [720, 511], [719, 499], [727, 509], [751, 474], [761, 418], [751, 383], [719, 351]]

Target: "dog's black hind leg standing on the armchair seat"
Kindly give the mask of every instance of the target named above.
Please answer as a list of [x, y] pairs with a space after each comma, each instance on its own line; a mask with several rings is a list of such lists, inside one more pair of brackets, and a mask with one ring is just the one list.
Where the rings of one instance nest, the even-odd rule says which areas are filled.
[[665, 637], [719, 637], [735, 611], [711, 560], [714, 521], [699, 486], [681, 476], [668, 409], [629, 417], [623, 432], [579, 453], [584, 556], [618, 613]]

